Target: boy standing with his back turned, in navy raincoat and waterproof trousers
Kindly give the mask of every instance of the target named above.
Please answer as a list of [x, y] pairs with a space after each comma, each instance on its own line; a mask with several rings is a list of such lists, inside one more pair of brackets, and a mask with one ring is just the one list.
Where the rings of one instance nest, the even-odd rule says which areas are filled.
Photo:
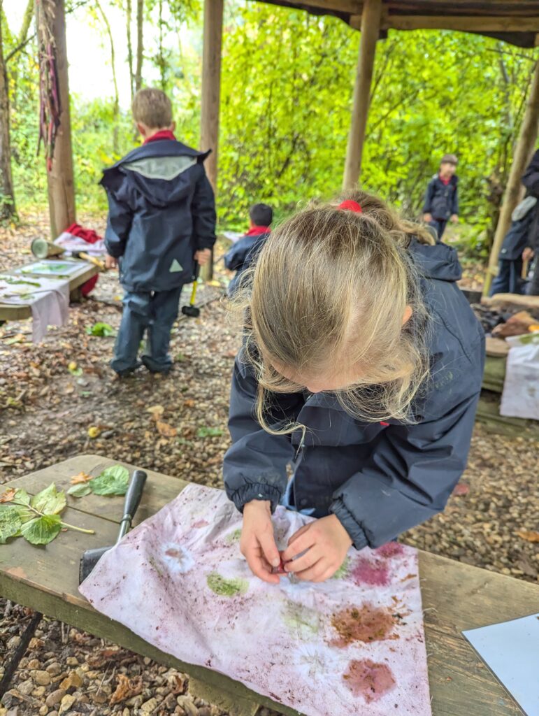
[[215, 243], [215, 203], [202, 153], [173, 134], [170, 100], [160, 89], [141, 89], [132, 105], [144, 143], [112, 168], [107, 191], [107, 265], [120, 266], [124, 311], [111, 367], [124, 376], [142, 363], [153, 373], [172, 367], [170, 331], [195, 261], [208, 261]]

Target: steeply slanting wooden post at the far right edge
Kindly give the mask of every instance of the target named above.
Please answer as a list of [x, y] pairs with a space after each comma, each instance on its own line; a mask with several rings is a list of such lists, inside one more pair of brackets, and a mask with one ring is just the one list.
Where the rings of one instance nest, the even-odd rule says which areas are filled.
[[483, 295], [488, 296], [492, 277], [497, 275], [497, 261], [500, 256], [503, 239], [508, 232], [511, 223], [511, 214], [518, 204], [520, 194], [520, 179], [524, 173], [526, 165], [533, 150], [533, 145], [537, 139], [539, 124], [539, 62], [535, 64], [535, 72], [533, 73], [533, 82], [530, 87], [530, 94], [526, 102], [526, 110], [523, 117], [522, 126], [520, 127], [520, 135], [518, 136], [515, 157], [509, 173], [508, 183], [505, 188], [500, 216], [497, 220], [496, 233], [492, 248], [490, 250], [490, 258], [488, 261], [487, 274], [485, 276], [485, 286]]

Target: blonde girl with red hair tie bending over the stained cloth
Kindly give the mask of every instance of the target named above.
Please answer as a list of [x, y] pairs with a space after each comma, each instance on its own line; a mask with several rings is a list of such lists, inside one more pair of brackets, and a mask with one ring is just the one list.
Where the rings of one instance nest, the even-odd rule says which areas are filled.
[[[358, 193], [298, 213], [263, 246], [230, 394], [225, 488], [241, 550], [278, 581], [324, 581], [442, 511], [465, 469], [482, 329], [454, 248]], [[293, 478], [288, 480], [288, 466]], [[280, 556], [271, 513], [314, 516]]]

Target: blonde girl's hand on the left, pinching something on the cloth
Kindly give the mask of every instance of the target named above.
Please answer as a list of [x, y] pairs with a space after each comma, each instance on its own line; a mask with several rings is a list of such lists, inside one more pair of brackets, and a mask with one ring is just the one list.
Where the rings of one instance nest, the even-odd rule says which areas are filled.
[[243, 529], [240, 549], [254, 575], [278, 584], [278, 574], [272, 568], [281, 564], [271, 521], [271, 504], [268, 500], [252, 500], [243, 507]]

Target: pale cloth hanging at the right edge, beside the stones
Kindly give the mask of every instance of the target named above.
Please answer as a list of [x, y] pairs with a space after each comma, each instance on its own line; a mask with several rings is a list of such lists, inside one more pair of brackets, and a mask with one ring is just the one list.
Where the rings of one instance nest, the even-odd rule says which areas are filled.
[[500, 415], [539, 420], [539, 332], [505, 340], [510, 348]]

